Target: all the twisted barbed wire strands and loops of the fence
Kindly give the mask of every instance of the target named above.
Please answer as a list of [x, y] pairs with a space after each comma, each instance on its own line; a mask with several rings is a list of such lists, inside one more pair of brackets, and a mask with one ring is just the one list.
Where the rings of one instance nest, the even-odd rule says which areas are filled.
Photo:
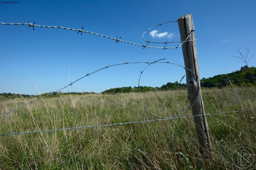
[[[169, 21], [169, 22], [177, 22], [177, 20], [176, 20], [176, 21]], [[156, 25], [156, 26], [161, 26], [161, 25], [166, 24], [166, 23], [169, 23], [169, 22], [164, 22], [164, 23], [158, 24], [158, 25]], [[108, 37], [108, 36], [105, 36], [105, 35], [100, 35], [100, 34], [93, 33], [93, 32], [89, 32], [89, 31], [83, 31], [83, 30], [82, 30], [83, 27], [82, 27], [82, 29], [79, 29], [79, 28], [78, 28], [78, 29], [71, 29], [71, 28], [59, 27], [59, 26], [40, 26], [40, 25], [35, 25], [35, 22], [34, 22], [33, 24], [30, 23], [30, 22], [29, 22], [28, 24], [27, 24], [27, 23], [22, 23], [22, 24], [20, 24], [20, 23], [3, 23], [3, 22], [0, 22], [0, 24], [1, 24], [1, 25], [18, 25], [18, 26], [19, 26], [19, 25], [29, 25], [29, 28], [30, 28], [30, 27], [33, 27], [33, 30], [34, 30], [34, 27], [35, 27], [35, 26], [36, 26], [36, 27], [48, 27], [48, 28], [61, 28], [61, 29], [67, 29], [67, 30], [72, 30], [72, 31], [78, 31], [78, 33], [81, 32], [81, 35], [82, 35], [83, 32], [85, 32], [85, 33], [90, 33], [90, 34], [93, 34], [93, 35], [98, 35], [98, 36], [100, 36], [100, 37], [105, 37], [105, 38], [109, 38], [109, 39], [115, 40], [116, 43], [117, 43], [117, 42], [126, 42], [126, 43], [129, 43], [129, 44], [142, 46], [143, 49], [145, 49], [146, 47], [147, 47], [147, 48], [156, 48], [156, 49], [178, 48], [178, 47], [182, 46], [182, 44], [184, 44], [184, 42], [195, 41], [195, 40], [196, 40], [196, 39], [195, 39], [195, 40], [188, 40], [188, 38], [189, 38], [189, 37], [191, 36], [191, 34], [195, 31], [195, 29], [193, 29], [193, 30], [191, 31], [191, 33], [188, 35], [188, 37], [186, 38], [185, 41], [152, 42], [152, 41], [150, 41], [150, 40], [146, 40], [146, 39], [143, 37], [144, 34], [145, 34], [146, 32], [148, 32], [150, 29], [156, 27], [156, 26], [154, 26], [154, 27], [151, 27], [151, 28], [147, 29], [147, 31], [145, 31], [145, 32], [143, 33], [143, 35], [142, 35], [142, 38], [146, 41], [146, 43], [149, 43], [149, 44], [150, 44], [150, 42], [151, 42], [151, 43], [158, 43], [158, 44], [165, 44], [165, 45], [167, 45], [168, 43], [174, 43], [174, 42], [176, 42], [176, 43], [177, 43], [177, 42], [180, 42], [180, 43], [181, 43], [180, 45], [174, 46], [174, 47], [159, 48], [159, 47], [148, 46], [148, 44], [136, 44], [136, 43], [133, 43], [133, 42], [124, 41], [124, 40], [121, 40], [121, 39], [120, 39], [121, 37], [120, 37], [120, 38], [118, 38], [118, 37], [117, 37], [117, 38], [112, 38], [112, 37]], [[160, 60], [164, 60], [164, 59], [165, 59], [165, 58], [160, 59]], [[96, 71], [93, 71], [92, 73], [87, 73], [86, 75], [84, 75], [84, 76], [81, 77], [80, 79], [77, 79], [77, 80], [75, 80], [74, 82], [69, 83], [67, 86], [65, 86], [65, 87], [63, 87], [63, 88], [61, 88], [61, 89], [59, 89], [59, 90], [57, 90], [57, 91], [52, 91], [51, 93], [48, 93], [47, 95], [45, 95], [45, 96], [43, 96], [43, 97], [40, 97], [40, 98], [38, 98], [38, 99], [36, 99], [36, 100], [34, 100], [34, 101], [30, 101], [30, 102], [28, 102], [28, 103], [26, 103], [26, 104], [24, 104], [24, 105], [22, 105], [22, 106], [20, 106], [20, 107], [18, 107], [18, 108], [15, 108], [15, 109], [13, 109], [13, 110], [11, 110], [11, 111], [9, 111], [9, 112], [6, 112], [6, 113], [0, 115], [0, 117], [4, 117], [5, 115], [8, 115], [9, 113], [14, 112], [15, 110], [18, 110], [18, 109], [20, 109], [20, 108], [23, 108], [24, 106], [26, 106], [26, 105], [28, 105], [28, 104], [31, 104], [31, 103], [36, 102], [36, 101], [39, 101], [40, 99], [43, 99], [44, 97], [47, 97], [48, 95], [52, 95], [52, 94], [54, 94], [54, 93], [56, 93], [56, 92], [58, 92], [58, 91], [63, 90], [64, 88], [67, 88], [67, 87], [69, 87], [69, 86], [72, 86], [72, 84], [74, 84], [74, 83], [77, 82], [78, 80], [81, 80], [81, 79], [83, 79], [83, 78], [85, 78], [85, 77], [87, 77], [87, 76], [91, 76], [91, 74], [96, 73], [96, 72], [98, 72], [98, 71], [100, 71], [100, 70], [102, 70], [102, 69], [107, 69], [107, 68], [109, 68], [109, 67], [119, 66], [119, 65], [138, 64], [138, 63], [146, 63], [146, 64], [148, 64], [148, 66], [150, 66], [151, 64], [155, 64], [155, 63], [160, 63], [160, 64], [174, 64], [174, 65], [180, 66], [180, 67], [182, 67], [182, 68], [184, 68], [184, 69], [186, 69], [186, 70], [188, 70], [188, 71], [191, 71], [191, 73], [193, 73], [195, 79], [197, 79], [197, 85], [199, 84], [198, 76], [197, 76], [191, 69], [185, 68], [184, 66], [181, 66], [181, 65], [176, 64], [176, 63], [173, 63], [173, 62], [161, 62], [160, 60], [156, 60], [156, 61], [153, 61], [153, 62], [149, 62], [149, 61], [148, 61], [148, 62], [124, 62], [124, 63], [121, 63], [121, 64], [113, 64], [113, 65], [110, 65], [110, 66], [105, 66], [104, 68], [100, 68], [100, 69], [98, 69], [98, 70], [96, 70]], [[142, 98], [141, 98], [141, 89], [140, 89], [140, 86], [139, 86], [140, 79], [141, 79], [141, 75], [142, 75], [142, 73], [145, 71], [145, 69], [148, 68], [148, 66], [147, 66], [146, 68], [144, 68], [144, 69], [141, 71], [140, 76], [139, 76], [139, 82], [138, 82], [139, 98], [140, 98], [140, 100], [141, 100], [141, 103], [142, 103], [143, 107], [144, 107], [150, 114], [152, 114], [152, 115], [154, 115], [154, 116], [156, 116], [156, 117], [158, 117], [158, 118], [162, 118], [162, 119], [153, 119], [153, 120], [146, 120], [146, 121], [119, 122], [119, 123], [113, 123], [113, 124], [101, 124], [101, 125], [91, 125], [91, 126], [80, 126], [80, 127], [72, 127], [72, 128], [60, 128], [60, 129], [39, 130], [39, 131], [30, 131], [30, 132], [15, 132], [15, 133], [0, 134], [0, 136], [6, 136], [6, 135], [20, 135], [20, 134], [26, 134], [26, 133], [40, 133], [40, 132], [43, 133], [43, 132], [52, 132], [52, 131], [61, 131], [61, 130], [72, 130], [72, 129], [80, 129], [80, 128], [96, 128], [96, 127], [114, 126], [114, 125], [122, 125], [122, 124], [145, 123], [145, 122], [152, 122], [152, 121], [166, 121], [166, 120], [174, 120], [174, 119], [178, 119], [178, 118], [198, 117], [198, 116], [206, 116], [206, 115], [220, 115], [220, 114], [224, 114], [224, 113], [240, 113], [240, 112], [247, 112], [247, 111], [256, 110], [256, 108], [252, 108], [252, 109], [247, 109], [247, 110], [238, 110], [238, 111], [231, 111], [231, 112], [206, 113], [206, 114], [203, 114], [203, 115], [182, 115], [182, 114], [186, 113], [189, 109], [191, 109], [191, 107], [192, 107], [192, 106], [195, 104], [195, 102], [197, 101], [197, 99], [198, 99], [198, 94], [200, 94], [200, 88], [199, 88], [200, 86], [197, 86], [198, 88], [197, 88], [197, 96], [196, 96], [196, 98], [195, 98], [195, 102], [194, 102], [191, 106], [189, 106], [189, 108], [187, 108], [187, 109], [184, 110], [183, 112], [178, 113], [177, 115], [174, 115], [174, 116], [171, 116], [171, 117], [161, 117], [161, 116], [159, 116], [159, 115], [156, 115], [156, 114], [152, 113], [150, 110], [148, 110], [148, 108], [147, 108], [147, 107], [145, 106], [145, 104], [143, 103], [143, 100], [142, 100]], [[31, 82], [32, 82], [32, 81], [31, 81]], [[32, 83], [33, 83], [33, 82], [32, 82]]]

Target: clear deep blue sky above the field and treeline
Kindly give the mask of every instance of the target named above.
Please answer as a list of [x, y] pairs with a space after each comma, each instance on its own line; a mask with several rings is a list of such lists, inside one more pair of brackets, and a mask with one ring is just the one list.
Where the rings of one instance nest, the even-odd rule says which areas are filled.
[[[3, 1], [4, 2], [4, 1]], [[142, 34], [159, 23], [192, 14], [195, 26], [200, 79], [236, 71], [245, 64], [232, 56], [256, 53], [255, 0], [216, 1], [28, 1], [0, 3], [0, 22], [61, 26], [146, 44]], [[57, 91], [97, 69], [124, 62], [165, 61], [184, 66], [182, 48], [153, 49], [56, 28], [0, 25], [0, 93], [37, 94]], [[145, 33], [154, 42], [180, 41], [178, 23], [155, 27]], [[179, 44], [168, 44], [177, 46]], [[164, 47], [163, 44], [150, 46]], [[100, 91], [137, 86], [147, 64], [127, 64], [98, 71], [73, 84], [67, 91]], [[249, 66], [256, 66], [252, 57]], [[160, 87], [180, 81], [181, 67], [152, 64], [142, 74], [141, 86]], [[34, 82], [32, 84], [30, 82]], [[182, 82], [185, 82], [183, 80]], [[35, 86], [34, 86], [35, 85]], [[34, 87], [32, 87], [34, 86]], [[78, 88], [79, 86], [79, 88]]]

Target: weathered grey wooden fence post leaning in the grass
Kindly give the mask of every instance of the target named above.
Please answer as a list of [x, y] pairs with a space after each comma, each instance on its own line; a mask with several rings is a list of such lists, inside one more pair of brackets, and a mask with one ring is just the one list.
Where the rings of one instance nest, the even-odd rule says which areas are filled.
[[[185, 41], [191, 32], [193, 32], [187, 40], [195, 40], [194, 34], [194, 25], [192, 20], [192, 15], [187, 14], [178, 18], [178, 26], [180, 29], [180, 39]], [[186, 70], [187, 77], [187, 98], [189, 99], [190, 104], [192, 105], [193, 115], [204, 115], [204, 103], [202, 101], [201, 93], [198, 93], [200, 90], [200, 78], [199, 78], [199, 68], [197, 61], [197, 49], [195, 41], [187, 41], [182, 44], [183, 57], [185, 62], [185, 67], [191, 69], [198, 77], [189, 71]], [[198, 80], [197, 80], [198, 79]], [[198, 83], [197, 83], [198, 81]], [[198, 93], [198, 94], [197, 94]], [[195, 128], [197, 131], [197, 138], [199, 141], [199, 150], [201, 153], [210, 153], [211, 152], [211, 141], [208, 130], [208, 124], [205, 116], [196, 116], [194, 117]]]

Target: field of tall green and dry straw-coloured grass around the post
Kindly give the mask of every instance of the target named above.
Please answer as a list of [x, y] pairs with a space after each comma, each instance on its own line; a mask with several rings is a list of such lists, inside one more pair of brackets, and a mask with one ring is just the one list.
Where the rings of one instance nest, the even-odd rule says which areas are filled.
[[[204, 89], [206, 113], [256, 108], [256, 88]], [[142, 94], [153, 113], [189, 107], [187, 91]], [[0, 99], [1, 115], [32, 99]], [[191, 115], [191, 110], [182, 115]], [[182, 116], [181, 115], [181, 116]], [[139, 93], [72, 95], [39, 100], [0, 117], [0, 134], [157, 119]], [[249, 148], [256, 168], [256, 111], [206, 116], [212, 154], [198, 151], [193, 117], [0, 137], [0, 169], [235, 170], [232, 154]], [[176, 153], [176, 154], [175, 154]], [[178, 154], [177, 154], [178, 153]], [[247, 162], [248, 163], [248, 162]]]

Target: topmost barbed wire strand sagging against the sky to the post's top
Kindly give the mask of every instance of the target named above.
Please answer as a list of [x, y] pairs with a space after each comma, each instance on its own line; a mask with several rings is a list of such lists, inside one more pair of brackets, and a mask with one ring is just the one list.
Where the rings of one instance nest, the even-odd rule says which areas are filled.
[[[166, 22], [167, 23], [167, 22]], [[165, 24], [165, 23], [164, 23]], [[32, 24], [32, 23], [4, 23], [4, 22], [0, 22], [0, 25], [17, 25], [17, 26], [20, 26], [20, 25], [24, 25], [24, 26], [26, 26], [26, 25], [28, 25], [29, 26], [29, 28], [32, 26], [33, 27], [33, 30], [34, 30], [34, 27], [45, 27], [45, 28], [61, 28], [61, 29], [67, 29], [67, 30], [72, 30], [72, 31], [78, 31], [78, 33], [79, 32], [81, 32], [81, 35], [82, 35], [82, 33], [84, 32], [84, 33], [89, 33], [89, 34], [93, 34], [93, 35], [98, 35], [98, 36], [100, 36], [100, 37], [105, 37], [105, 38], [109, 38], [109, 39], [112, 39], [112, 40], [115, 40], [115, 42], [119, 42], [119, 41], [121, 41], [121, 42], [126, 42], [126, 43], [129, 43], [129, 44], [133, 44], [133, 45], [137, 45], [137, 46], [142, 46], [143, 47], [143, 49], [144, 48], [156, 48], [156, 49], [169, 49], [169, 48], [178, 48], [178, 47], [180, 47], [180, 46], [182, 46], [182, 44], [184, 43], [184, 42], [187, 42], [187, 41], [195, 41], [195, 40], [187, 40], [187, 38], [191, 35], [191, 33], [189, 34], [189, 36], [186, 38], [186, 40], [184, 41], [184, 42], [182, 42], [182, 44], [180, 44], [180, 45], [178, 45], [178, 46], [174, 46], [174, 47], [164, 47], [164, 48], [161, 48], [161, 47], [153, 47], [153, 46], [147, 46], [147, 45], [145, 45], [145, 44], [136, 44], [136, 43], [133, 43], [133, 42], [128, 42], [128, 41], [125, 41], [125, 40], [121, 40], [120, 38], [112, 38], [112, 37], [108, 37], [108, 36], [106, 36], [106, 35], [101, 35], [101, 34], [97, 34], [97, 33], [93, 33], [93, 32], [90, 32], [90, 31], [83, 31], [82, 29], [72, 29], [72, 28], [67, 28], [67, 27], [59, 27], [59, 26], [41, 26], [41, 25], [35, 25], [35, 22]]]

